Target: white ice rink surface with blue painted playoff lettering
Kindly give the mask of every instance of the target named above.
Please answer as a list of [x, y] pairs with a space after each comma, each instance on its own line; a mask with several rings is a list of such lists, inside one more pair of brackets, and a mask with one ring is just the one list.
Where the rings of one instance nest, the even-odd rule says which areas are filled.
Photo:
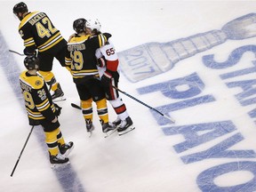
[[106, 139], [94, 112], [88, 138], [70, 106], [79, 104], [75, 84], [54, 60], [70, 164], [52, 170], [38, 126], [10, 177], [31, 128], [18, 81], [24, 57], [8, 52], [23, 51], [16, 3], [0, 1], [1, 191], [256, 191], [256, 1], [26, 1], [66, 39], [74, 20], [98, 18], [119, 52], [119, 89], [176, 122], [121, 93], [136, 129]]

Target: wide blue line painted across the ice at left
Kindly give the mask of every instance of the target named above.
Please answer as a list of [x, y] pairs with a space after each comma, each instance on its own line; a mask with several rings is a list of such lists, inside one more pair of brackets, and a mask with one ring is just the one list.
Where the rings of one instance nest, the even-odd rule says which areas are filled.
[[[23, 98], [20, 93], [20, 81], [19, 76], [21, 72], [21, 67], [23, 66], [23, 63], [18, 64], [14, 58], [12, 53], [8, 51], [8, 46], [4, 41], [4, 36], [2, 35], [0, 31], [0, 67], [3, 69], [4, 74], [8, 80], [8, 83], [10, 84], [10, 87], [12, 87], [12, 91], [14, 92], [17, 99], [19, 99], [20, 108], [24, 108], [23, 106]], [[25, 112], [25, 110], [24, 110]], [[29, 126], [28, 126], [29, 127]], [[21, 132], [22, 130], [20, 130]], [[44, 151], [47, 151], [47, 148], [45, 148], [44, 144], [44, 133], [40, 132], [42, 129], [35, 129], [35, 134], [37, 140], [40, 142], [40, 145], [42, 148], [44, 148]], [[48, 155], [48, 154], [47, 154]], [[46, 159], [48, 160], [48, 156], [46, 156]], [[50, 163], [49, 163], [49, 169], [51, 169]], [[19, 171], [19, 170], [18, 170]], [[73, 191], [79, 191], [84, 192], [84, 186], [81, 184], [81, 181], [78, 179], [76, 172], [72, 168], [72, 164], [67, 164], [64, 166], [60, 166], [58, 168], [54, 168], [52, 170], [57, 179], [60, 182], [61, 188], [63, 188], [63, 191], [67, 192], [73, 192]]]

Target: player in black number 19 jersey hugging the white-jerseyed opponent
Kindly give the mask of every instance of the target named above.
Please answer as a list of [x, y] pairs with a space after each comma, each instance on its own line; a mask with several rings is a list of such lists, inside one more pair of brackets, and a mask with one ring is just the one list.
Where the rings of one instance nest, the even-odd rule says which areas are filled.
[[86, 20], [78, 19], [73, 23], [76, 31], [68, 40], [66, 64], [70, 67], [76, 90], [81, 100], [81, 108], [87, 128], [92, 134], [92, 100], [97, 105], [102, 132], [107, 135], [116, 130], [108, 124], [108, 107], [105, 92], [100, 82], [99, 71], [96, 67], [95, 51], [107, 42], [110, 34], [100, 34], [91, 38], [85, 34]]

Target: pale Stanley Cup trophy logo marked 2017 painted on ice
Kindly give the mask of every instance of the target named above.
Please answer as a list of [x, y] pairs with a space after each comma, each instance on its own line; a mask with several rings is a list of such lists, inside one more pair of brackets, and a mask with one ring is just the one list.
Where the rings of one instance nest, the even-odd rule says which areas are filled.
[[180, 60], [204, 52], [228, 39], [241, 40], [256, 36], [256, 13], [229, 21], [221, 30], [180, 38], [167, 43], [148, 43], [118, 52], [121, 70], [130, 81], [138, 82], [164, 73]]

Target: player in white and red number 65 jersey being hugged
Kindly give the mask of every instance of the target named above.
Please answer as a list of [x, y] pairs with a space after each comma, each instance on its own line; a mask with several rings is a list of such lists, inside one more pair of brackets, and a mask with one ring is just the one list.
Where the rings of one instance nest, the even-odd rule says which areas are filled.
[[[100, 33], [101, 25], [98, 19], [87, 20], [85, 26], [86, 33], [91, 33], [92, 36]], [[95, 54], [98, 59], [98, 69], [106, 92], [106, 99], [112, 105], [117, 115], [116, 121], [112, 124], [117, 126], [119, 135], [131, 132], [135, 127], [127, 112], [124, 101], [119, 96], [118, 90], [116, 90], [119, 81], [119, 60], [114, 45], [108, 40], [108, 44], [97, 49]]]

